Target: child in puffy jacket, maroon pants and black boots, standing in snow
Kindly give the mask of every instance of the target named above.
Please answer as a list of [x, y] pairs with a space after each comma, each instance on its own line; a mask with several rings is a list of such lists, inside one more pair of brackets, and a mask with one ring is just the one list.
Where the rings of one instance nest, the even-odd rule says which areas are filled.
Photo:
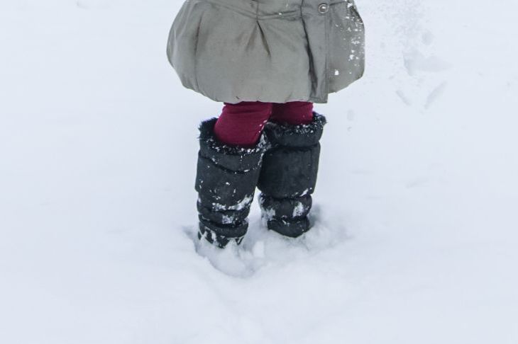
[[308, 231], [326, 124], [313, 103], [363, 75], [353, 0], [187, 0], [167, 57], [183, 86], [224, 103], [199, 127], [199, 239], [241, 243], [256, 187], [268, 229]]

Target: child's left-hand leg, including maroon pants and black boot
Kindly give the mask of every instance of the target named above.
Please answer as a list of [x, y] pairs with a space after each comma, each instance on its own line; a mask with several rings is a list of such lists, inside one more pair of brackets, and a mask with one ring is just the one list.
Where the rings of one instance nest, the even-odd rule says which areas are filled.
[[259, 137], [271, 112], [271, 103], [225, 103], [218, 120], [200, 125], [199, 239], [224, 247], [231, 241], [240, 243], [246, 234], [246, 218], [267, 149]]

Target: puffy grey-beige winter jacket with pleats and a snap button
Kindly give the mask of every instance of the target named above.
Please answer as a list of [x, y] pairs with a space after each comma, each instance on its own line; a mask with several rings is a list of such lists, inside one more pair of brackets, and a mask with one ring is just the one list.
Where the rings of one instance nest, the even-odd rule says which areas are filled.
[[326, 103], [363, 75], [364, 45], [353, 0], [187, 0], [167, 57], [214, 101]]

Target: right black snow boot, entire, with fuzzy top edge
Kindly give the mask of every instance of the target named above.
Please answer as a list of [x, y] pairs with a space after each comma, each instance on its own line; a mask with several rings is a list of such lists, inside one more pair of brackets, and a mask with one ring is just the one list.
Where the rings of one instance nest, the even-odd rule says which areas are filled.
[[319, 139], [325, 124], [326, 117], [313, 112], [313, 122], [308, 125], [266, 125], [271, 147], [263, 157], [258, 188], [268, 229], [293, 238], [309, 230], [307, 214], [312, 207]]

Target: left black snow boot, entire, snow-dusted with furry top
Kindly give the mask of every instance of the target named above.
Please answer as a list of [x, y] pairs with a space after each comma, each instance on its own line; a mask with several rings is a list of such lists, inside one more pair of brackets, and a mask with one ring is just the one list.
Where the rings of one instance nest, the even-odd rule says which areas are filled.
[[241, 243], [248, 229], [248, 213], [258, 183], [266, 139], [255, 147], [222, 144], [214, 137], [216, 118], [199, 127], [196, 177], [199, 239], [223, 248], [230, 241]]

